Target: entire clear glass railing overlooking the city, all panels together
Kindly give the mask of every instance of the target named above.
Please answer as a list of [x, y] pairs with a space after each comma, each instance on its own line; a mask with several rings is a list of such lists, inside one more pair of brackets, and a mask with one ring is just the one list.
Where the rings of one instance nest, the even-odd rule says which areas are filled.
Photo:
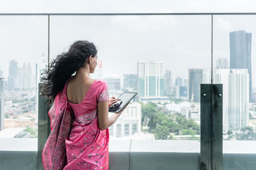
[[109, 96], [138, 92], [109, 127], [111, 139], [200, 141], [200, 84], [212, 79], [223, 84], [224, 153], [230, 153], [226, 142], [254, 143], [254, 19], [214, 13], [0, 16], [0, 138], [38, 137], [40, 75], [74, 41], [86, 39], [98, 48], [91, 76], [108, 83]]

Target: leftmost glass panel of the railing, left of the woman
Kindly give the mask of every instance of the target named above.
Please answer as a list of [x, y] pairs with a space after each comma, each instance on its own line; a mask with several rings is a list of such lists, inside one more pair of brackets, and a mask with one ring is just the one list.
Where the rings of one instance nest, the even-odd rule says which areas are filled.
[[1, 16], [0, 22], [0, 138], [37, 138], [37, 83], [47, 63], [47, 17]]

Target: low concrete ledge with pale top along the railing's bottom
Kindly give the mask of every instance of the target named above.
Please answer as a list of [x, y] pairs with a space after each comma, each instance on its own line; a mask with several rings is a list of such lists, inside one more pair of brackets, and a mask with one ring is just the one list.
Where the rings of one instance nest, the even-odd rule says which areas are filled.
[[[224, 141], [223, 169], [255, 169], [255, 143], [256, 141]], [[36, 155], [37, 139], [0, 139], [0, 169], [35, 170]], [[199, 160], [199, 141], [122, 139], [109, 141], [111, 170], [198, 170]]]

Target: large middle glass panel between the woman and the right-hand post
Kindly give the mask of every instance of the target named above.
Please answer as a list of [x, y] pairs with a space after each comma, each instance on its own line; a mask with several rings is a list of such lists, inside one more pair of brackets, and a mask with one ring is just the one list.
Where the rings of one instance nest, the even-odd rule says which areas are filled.
[[129, 139], [200, 139], [200, 83], [211, 80], [210, 16], [51, 17], [51, 59], [79, 39], [97, 46], [91, 76], [108, 83], [109, 96], [138, 91], [113, 136], [123, 138], [129, 122]]

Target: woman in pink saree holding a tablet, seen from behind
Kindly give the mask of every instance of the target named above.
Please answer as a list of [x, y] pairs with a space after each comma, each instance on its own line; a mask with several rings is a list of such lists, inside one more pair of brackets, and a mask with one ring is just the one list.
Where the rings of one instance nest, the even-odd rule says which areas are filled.
[[52, 131], [42, 153], [45, 169], [108, 169], [108, 127], [125, 108], [108, 117], [117, 100], [109, 100], [106, 82], [89, 76], [97, 58], [93, 43], [76, 41], [45, 71], [42, 95], [54, 101]]

